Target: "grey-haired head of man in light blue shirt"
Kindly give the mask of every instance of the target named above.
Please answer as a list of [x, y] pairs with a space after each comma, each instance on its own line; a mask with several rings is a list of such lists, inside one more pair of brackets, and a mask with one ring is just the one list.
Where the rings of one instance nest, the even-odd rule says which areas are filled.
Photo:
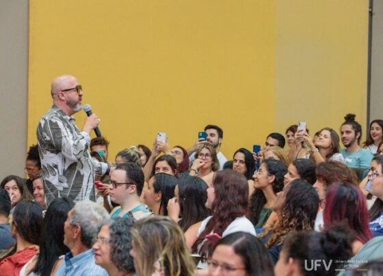
[[109, 219], [109, 214], [103, 206], [89, 201], [77, 202], [64, 223], [64, 245], [69, 249], [77, 245], [92, 247], [105, 219]]

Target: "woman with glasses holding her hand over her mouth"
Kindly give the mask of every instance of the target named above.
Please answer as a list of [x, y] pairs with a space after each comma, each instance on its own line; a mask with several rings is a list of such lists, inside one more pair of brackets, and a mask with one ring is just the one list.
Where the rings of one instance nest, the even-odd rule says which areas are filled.
[[209, 143], [204, 143], [200, 148], [197, 148], [195, 157], [196, 160], [190, 167], [190, 176], [198, 176], [210, 186], [214, 171], [220, 169], [215, 149]]

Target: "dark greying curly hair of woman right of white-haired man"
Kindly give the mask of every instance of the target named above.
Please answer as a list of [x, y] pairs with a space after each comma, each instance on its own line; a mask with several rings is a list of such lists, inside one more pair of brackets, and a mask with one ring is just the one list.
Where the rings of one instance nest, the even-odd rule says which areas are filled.
[[131, 251], [131, 228], [133, 227], [134, 219], [116, 217], [116, 219], [111, 219], [105, 224], [109, 225], [111, 262], [120, 271], [134, 273], [133, 258], [129, 254]]

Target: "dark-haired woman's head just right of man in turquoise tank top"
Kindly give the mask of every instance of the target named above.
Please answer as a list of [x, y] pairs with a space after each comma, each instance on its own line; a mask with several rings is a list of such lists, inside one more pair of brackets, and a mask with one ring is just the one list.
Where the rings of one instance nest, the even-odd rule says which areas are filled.
[[155, 215], [168, 215], [169, 199], [174, 197], [174, 189], [179, 180], [170, 174], [159, 173], [149, 179], [145, 186], [143, 199]]

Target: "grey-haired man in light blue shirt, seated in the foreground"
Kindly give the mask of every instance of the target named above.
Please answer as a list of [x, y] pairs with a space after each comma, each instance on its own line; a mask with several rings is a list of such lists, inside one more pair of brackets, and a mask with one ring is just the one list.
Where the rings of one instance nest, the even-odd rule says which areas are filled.
[[107, 272], [94, 263], [92, 245], [101, 223], [109, 219], [102, 206], [94, 202], [77, 202], [68, 212], [64, 223], [64, 245], [70, 252], [57, 262], [53, 273], [63, 275], [107, 275]]

